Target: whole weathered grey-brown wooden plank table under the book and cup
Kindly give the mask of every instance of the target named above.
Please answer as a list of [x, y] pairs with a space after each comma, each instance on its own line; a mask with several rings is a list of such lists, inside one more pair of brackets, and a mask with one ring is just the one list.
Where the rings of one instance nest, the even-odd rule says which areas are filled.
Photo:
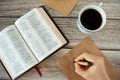
[[[100, 1], [101, 0], [79, 0], [71, 15], [66, 17], [42, 4], [39, 0], [0, 0], [0, 30], [8, 25], [14, 24], [20, 16], [29, 10], [42, 5], [46, 7], [61, 31], [69, 40], [68, 45], [38, 65], [43, 74], [42, 78], [32, 69], [22, 75], [18, 80], [67, 80], [58, 69], [56, 61], [86, 36], [89, 36], [96, 43], [103, 54], [120, 72], [120, 0], [102, 0], [104, 3], [102, 8], [107, 14], [107, 23], [101, 31], [86, 35], [77, 28], [76, 20], [81, 8], [88, 4], [98, 5]], [[0, 80], [9, 80], [1, 64]]]

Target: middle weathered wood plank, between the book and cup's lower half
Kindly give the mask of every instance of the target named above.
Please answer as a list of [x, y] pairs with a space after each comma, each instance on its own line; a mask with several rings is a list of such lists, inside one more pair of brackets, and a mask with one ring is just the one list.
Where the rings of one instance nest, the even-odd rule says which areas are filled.
[[[0, 18], [0, 30], [14, 24], [17, 18]], [[106, 26], [99, 32], [93, 34], [83, 34], [77, 28], [76, 18], [54, 18], [55, 22], [69, 40], [66, 46], [72, 48], [77, 45], [82, 38], [90, 36], [101, 49], [120, 50], [120, 20], [107, 20]]]

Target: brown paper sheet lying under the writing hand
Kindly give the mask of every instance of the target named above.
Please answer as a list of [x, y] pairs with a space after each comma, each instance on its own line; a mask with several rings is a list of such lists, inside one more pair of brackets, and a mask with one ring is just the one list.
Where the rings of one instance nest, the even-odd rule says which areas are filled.
[[83, 39], [80, 44], [78, 44], [75, 48], [69, 51], [60, 60], [58, 60], [58, 67], [68, 77], [69, 80], [85, 80], [84, 78], [75, 73], [75, 67], [73, 63], [73, 60], [84, 52], [103, 57], [107, 73], [111, 80], [120, 80], [120, 74], [111, 65], [111, 63], [101, 53], [101, 51], [97, 48], [97, 46], [93, 43], [93, 41], [90, 38]]

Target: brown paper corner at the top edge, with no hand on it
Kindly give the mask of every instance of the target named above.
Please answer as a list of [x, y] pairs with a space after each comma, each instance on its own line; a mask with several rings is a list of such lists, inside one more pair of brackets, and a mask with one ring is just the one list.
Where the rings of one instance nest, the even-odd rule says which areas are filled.
[[41, 0], [44, 4], [68, 16], [78, 0]]

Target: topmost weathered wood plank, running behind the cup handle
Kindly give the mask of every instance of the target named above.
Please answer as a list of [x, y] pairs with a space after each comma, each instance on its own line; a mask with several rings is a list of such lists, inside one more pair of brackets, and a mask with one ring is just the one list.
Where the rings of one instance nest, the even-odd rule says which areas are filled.
[[[79, 0], [70, 16], [77, 17], [78, 12], [86, 5], [98, 5], [101, 0]], [[102, 8], [108, 18], [120, 19], [120, 0], [102, 0]], [[43, 6], [40, 0], [0, 0], [0, 16], [21, 16], [32, 8]], [[45, 5], [46, 6], [46, 5]], [[47, 7], [49, 13], [54, 17], [64, 17], [55, 10]]]

